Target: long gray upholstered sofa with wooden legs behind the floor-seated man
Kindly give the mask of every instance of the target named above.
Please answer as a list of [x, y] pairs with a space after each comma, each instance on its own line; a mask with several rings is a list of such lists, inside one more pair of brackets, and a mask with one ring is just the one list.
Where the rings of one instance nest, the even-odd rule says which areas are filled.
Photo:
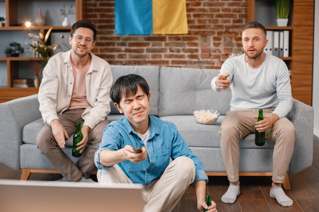
[[[114, 81], [122, 75], [142, 75], [151, 92], [150, 114], [176, 124], [179, 132], [202, 160], [207, 175], [226, 175], [220, 151], [218, 134], [224, 115], [229, 110], [229, 89], [214, 92], [210, 80], [219, 73], [212, 69], [172, 68], [157, 66], [112, 66]], [[123, 115], [111, 103], [110, 122]], [[0, 162], [12, 169], [22, 169], [21, 179], [32, 172], [57, 173], [40, 154], [35, 142], [42, 127], [37, 95], [0, 104]], [[220, 117], [214, 125], [197, 124], [193, 109], [214, 109]], [[312, 164], [313, 108], [294, 100], [287, 116], [297, 130], [290, 173], [300, 172]], [[71, 138], [72, 139], [72, 138]], [[71, 156], [71, 142], [64, 151]], [[254, 144], [254, 134], [240, 141], [241, 175], [270, 176], [274, 142], [266, 140], [264, 146]], [[288, 180], [288, 178], [286, 178]], [[287, 182], [286, 186], [289, 186]], [[289, 189], [289, 188], [287, 188]]]

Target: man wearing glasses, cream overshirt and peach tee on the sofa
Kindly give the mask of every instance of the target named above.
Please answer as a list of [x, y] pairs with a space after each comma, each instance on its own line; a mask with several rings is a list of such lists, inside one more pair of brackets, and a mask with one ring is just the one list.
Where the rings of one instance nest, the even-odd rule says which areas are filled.
[[[111, 68], [92, 54], [96, 29], [91, 22], [77, 21], [69, 36], [71, 50], [52, 56], [43, 69], [38, 100], [44, 126], [37, 136], [41, 154], [55, 166], [60, 181], [91, 181], [94, 153], [109, 124]], [[62, 150], [82, 122], [81, 158], [75, 164]], [[90, 141], [90, 142], [89, 142]]]

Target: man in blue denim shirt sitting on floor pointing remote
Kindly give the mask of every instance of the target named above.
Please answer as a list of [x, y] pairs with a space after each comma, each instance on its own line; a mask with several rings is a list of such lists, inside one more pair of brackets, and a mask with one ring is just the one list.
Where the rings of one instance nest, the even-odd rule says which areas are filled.
[[[198, 210], [207, 209], [208, 177], [202, 162], [173, 123], [149, 115], [150, 93], [146, 80], [135, 74], [122, 76], [112, 86], [110, 96], [125, 117], [103, 131], [102, 142], [95, 153], [99, 183], [143, 184], [146, 202], [143, 212], [172, 211], [192, 184]], [[142, 147], [140, 153], [134, 152], [135, 146]], [[208, 211], [217, 211], [215, 202], [211, 203]]]

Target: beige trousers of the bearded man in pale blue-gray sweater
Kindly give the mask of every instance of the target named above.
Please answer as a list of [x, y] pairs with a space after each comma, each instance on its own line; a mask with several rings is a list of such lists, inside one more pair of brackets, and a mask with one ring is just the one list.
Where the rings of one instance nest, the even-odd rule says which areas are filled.
[[[272, 112], [264, 110], [263, 114]], [[239, 179], [240, 148], [238, 142], [245, 136], [255, 133], [256, 119], [253, 110], [228, 111], [222, 122], [219, 134], [221, 136], [221, 151], [228, 180]], [[273, 127], [266, 131], [265, 137], [276, 142], [273, 152], [274, 183], [283, 183], [291, 156], [294, 152], [296, 130], [287, 118], [280, 118]]]

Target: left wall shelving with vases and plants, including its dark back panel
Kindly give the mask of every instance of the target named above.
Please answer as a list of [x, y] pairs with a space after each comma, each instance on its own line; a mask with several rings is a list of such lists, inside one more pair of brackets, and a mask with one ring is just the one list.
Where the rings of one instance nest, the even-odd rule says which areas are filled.
[[[49, 38], [51, 41], [52, 34], [55, 33], [65, 34], [67, 36], [66, 32], [70, 32], [71, 26], [62, 26], [62, 21], [55, 20], [58, 18], [63, 19], [63, 17], [60, 16], [60, 8], [64, 4], [67, 10], [70, 6], [73, 7], [73, 11], [75, 12], [75, 15], [73, 15], [74, 21], [83, 19], [83, 0], [0, 0], [0, 3], [6, 7], [6, 25], [0, 27], [0, 36], [2, 37], [0, 45], [4, 46], [4, 50], [6, 47], [9, 47], [9, 43], [11, 42], [18, 42], [21, 46], [22, 44], [24, 45], [22, 47], [28, 48], [29, 46], [24, 43], [31, 41], [25, 41], [25, 39], [29, 39], [29, 33], [45, 34], [49, 28], [52, 28]], [[26, 27], [19, 24], [24, 22], [22, 17], [29, 18], [30, 20], [33, 19], [37, 14], [38, 8], [41, 7], [46, 10], [46, 12], [42, 10], [42, 14], [46, 16], [47, 25], [32, 25]], [[21, 12], [25, 12], [25, 14], [21, 15]], [[56, 14], [59, 16], [56, 17]], [[26, 52], [28, 49], [24, 51]], [[0, 80], [0, 103], [38, 93], [38, 88], [36, 87], [21, 88], [12, 86], [13, 79], [34, 78], [32, 66], [35, 60], [41, 60], [41, 58], [32, 57], [31, 52], [20, 54], [19, 57], [6, 57], [4, 52], [0, 52], [0, 75], [2, 75], [2, 79]]]

